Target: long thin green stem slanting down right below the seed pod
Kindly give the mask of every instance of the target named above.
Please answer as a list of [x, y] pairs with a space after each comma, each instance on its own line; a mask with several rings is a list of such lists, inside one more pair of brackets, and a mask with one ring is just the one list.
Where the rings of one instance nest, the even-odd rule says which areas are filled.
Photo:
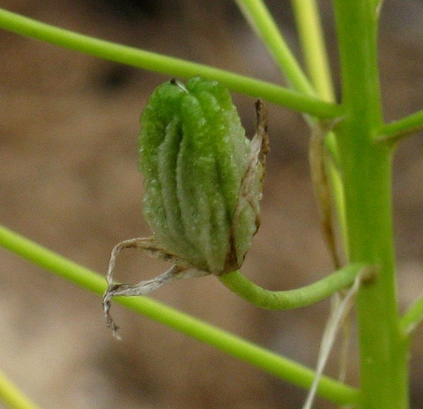
[[[4, 226], [0, 226], [0, 245], [81, 288], [99, 295], [102, 295], [106, 290], [106, 281], [99, 274], [61, 257], [61, 255], [14, 233]], [[216, 326], [202, 322], [200, 319], [167, 307], [151, 298], [116, 297], [115, 300], [116, 303], [138, 314], [165, 324], [228, 355], [249, 362], [275, 377], [285, 379], [304, 389], [308, 389], [312, 384], [314, 372], [309, 368], [223, 331]], [[99, 314], [101, 314], [100, 307]], [[359, 393], [356, 389], [329, 377], [321, 379], [318, 394], [339, 405], [357, 403], [359, 400]]]

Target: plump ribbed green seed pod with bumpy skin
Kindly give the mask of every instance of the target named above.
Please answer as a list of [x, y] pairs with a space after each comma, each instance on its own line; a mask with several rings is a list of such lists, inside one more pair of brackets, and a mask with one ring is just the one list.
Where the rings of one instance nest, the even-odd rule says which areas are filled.
[[159, 248], [215, 275], [238, 269], [257, 231], [264, 170], [257, 161], [242, 193], [252, 144], [228, 90], [197, 77], [164, 83], [141, 124], [143, 209]]

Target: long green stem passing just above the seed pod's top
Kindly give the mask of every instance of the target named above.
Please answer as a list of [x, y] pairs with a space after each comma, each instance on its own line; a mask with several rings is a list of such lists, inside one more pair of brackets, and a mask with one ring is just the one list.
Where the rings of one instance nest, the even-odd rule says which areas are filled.
[[235, 92], [247, 94], [252, 97], [260, 97], [269, 102], [286, 106], [294, 111], [306, 112], [319, 118], [333, 118], [342, 115], [341, 107], [336, 104], [287, 90], [278, 85], [231, 73], [230, 71], [219, 68], [204, 66], [183, 59], [176, 59], [151, 51], [144, 51], [81, 35], [69, 30], [63, 30], [62, 28], [41, 23], [1, 8], [0, 28], [102, 59], [171, 75], [172, 77], [190, 78], [195, 75], [202, 75], [204, 78], [219, 80]]

